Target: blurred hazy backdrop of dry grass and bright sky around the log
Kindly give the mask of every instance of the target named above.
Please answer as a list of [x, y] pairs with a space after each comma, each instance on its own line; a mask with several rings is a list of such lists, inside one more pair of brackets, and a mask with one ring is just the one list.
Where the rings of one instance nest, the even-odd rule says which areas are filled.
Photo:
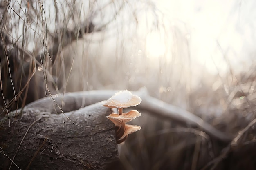
[[[255, 118], [255, 7], [254, 0], [2, 0], [1, 114], [57, 93], [145, 86], [235, 136]], [[157, 115], [133, 123], [142, 129], [119, 146], [112, 169], [201, 169], [225, 146]], [[254, 169], [253, 153], [240, 151], [247, 156], [239, 165], [233, 154], [218, 169]]]

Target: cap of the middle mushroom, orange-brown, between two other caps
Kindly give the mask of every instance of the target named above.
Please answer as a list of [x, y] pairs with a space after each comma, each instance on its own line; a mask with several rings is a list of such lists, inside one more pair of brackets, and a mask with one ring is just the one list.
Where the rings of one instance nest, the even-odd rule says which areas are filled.
[[123, 113], [122, 115], [111, 113], [106, 117], [110, 119], [115, 124], [115, 126], [121, 126], [122, 123], [132, 121], [133, 119], [140, 116], [141, 116], [141, 113], [139, 113], [137, 110], [131, 110], [127, 113]]

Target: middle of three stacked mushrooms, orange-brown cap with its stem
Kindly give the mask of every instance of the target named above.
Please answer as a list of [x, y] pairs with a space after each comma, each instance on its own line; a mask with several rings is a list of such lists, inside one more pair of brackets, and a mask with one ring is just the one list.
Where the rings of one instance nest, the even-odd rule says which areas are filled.
[[133, 119], [140, 116], [141, 113], [139, 113], [137, 110], [131, 110], [127, 113], [123, 113], [123, 115], [112, 113], [109, 116], [107, 116], [107, 118], [110, 119], [116, 127], [119, 127], [116, 132], [117, 139], [119, 139], [125, 133], [126, 122], [132, 121]]

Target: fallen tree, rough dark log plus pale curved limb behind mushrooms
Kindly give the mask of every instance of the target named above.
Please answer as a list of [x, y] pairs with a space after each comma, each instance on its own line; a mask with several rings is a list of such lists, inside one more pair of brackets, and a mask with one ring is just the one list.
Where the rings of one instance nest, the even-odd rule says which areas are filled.
[[[13, 159], [18, 149], [14, 162], [22, 169], [28, 166], [37, 170], [104, 169], [108, 162], [117, 159], [117, 144], [114, 125], [106, 119], [111, 112], [99, 101], [108, 99], [115, 92], [65, 93], [28, 104], [23, 113], [22, 110], [11, 112], [10, 127], [7, 116], [0, 121], [0, 152], [4, 155], [0, 158], [0, 168], [9, 168], [10, 161], [8, 163], [6, 156]], [[142, 98], [141, 104], [135, 107], [138, 110], [195, 125], [211, 137], [231, 141], [228, 134], [186, 110], [150, 97], [144, 90], [133, 93]], [[18, 169], [14, 164], [11, 167]]]

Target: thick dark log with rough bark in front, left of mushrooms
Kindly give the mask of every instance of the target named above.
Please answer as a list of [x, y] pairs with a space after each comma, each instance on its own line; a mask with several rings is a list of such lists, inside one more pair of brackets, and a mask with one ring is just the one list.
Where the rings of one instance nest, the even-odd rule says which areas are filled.
[[[29, 170], [104, 169], [118, 159], [114, 125], [106, 119], [109, 114], [102, 102], [66, 112], [75, 124], [82, 125], [77, 126], [63, 113], [47, 109], [28, 106], [23, 113], [10, 113], [10, 127], [8, 117], [0, 121], [0, 169], [9, 169], [11, 161], [4, 154], [13, 159], [20, 143], [13, 161], [22, 170], [30, 162]], [[11, 169], [19, 168], [12, 164]]]

